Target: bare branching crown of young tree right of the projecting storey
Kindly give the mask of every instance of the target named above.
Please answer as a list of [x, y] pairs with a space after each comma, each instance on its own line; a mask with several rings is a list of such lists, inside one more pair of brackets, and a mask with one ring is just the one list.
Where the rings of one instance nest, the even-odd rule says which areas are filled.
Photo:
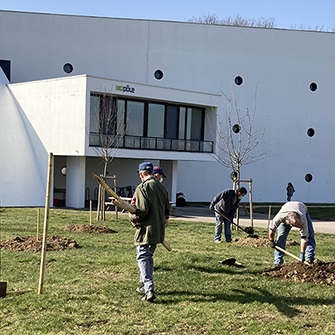
[[[217, 138], [218, 150], [215, 154], [217, 160], [226, 167], [237, 173], [237, 179], [241, 176], [241, 167], [267, 157], [268, 152], [254, 155], [252, 151], [264, 137], [266, 121], [259, 134], [254, 129], [256, 115], [257, 88], [255, 89], [255, 103], [253, 110], [246, 108], [242, 115], [236, 101], [235, 87], [232, 86], [231, 96], [227, 96], [221, 91], [227, 101], [227, 111], [224, 121], [221, 121], [218, 113], [217, 117]], [[223, 123], [225, 130], [223, 129]]]

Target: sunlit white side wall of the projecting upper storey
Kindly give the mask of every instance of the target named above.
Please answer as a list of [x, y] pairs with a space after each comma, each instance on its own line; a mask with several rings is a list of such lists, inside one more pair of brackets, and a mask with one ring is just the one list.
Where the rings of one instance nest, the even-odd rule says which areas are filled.
[[46, 150], [54, 155], [84, 155], [86, 76], [11, 84]]

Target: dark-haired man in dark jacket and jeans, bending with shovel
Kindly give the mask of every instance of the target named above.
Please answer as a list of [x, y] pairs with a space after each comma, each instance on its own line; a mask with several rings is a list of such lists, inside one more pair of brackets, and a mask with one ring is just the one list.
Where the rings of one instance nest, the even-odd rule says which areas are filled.
[[[217, 194], [212, 200], [209, 209], [222, 213], [231, 221], [234, 219], [234, 214], [241, 199], [247, 194], [245, 187], [234, 190], [224, 190]], [[221, 243], [222, 224], [224, 224], [224, 234], [226, 242], [231, 242], [231, 223], [223, 216], [215, 212], [215, 239], [214, 242]]]

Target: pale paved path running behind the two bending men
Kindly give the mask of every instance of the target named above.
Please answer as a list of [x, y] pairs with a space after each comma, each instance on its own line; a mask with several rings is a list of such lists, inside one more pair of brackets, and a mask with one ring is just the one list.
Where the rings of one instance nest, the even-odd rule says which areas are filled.
[[[185, 221], [213, 222], [213, 225], [215, 223], [215, 217], [213, 211], [209, 210], [206, 207], [200, 207], [200, 206], [178, 207], [174, 215], [170, 217], [170, 220], [174, 219], [185, 220]], [[254, 227], [265, 228], [265, 229], [268, 227], [267, 214], [253, 213], [253, 221], [254, 221]], [[312, 221], [315, 232], [335, 234], [335, 221], [313, 220], [313, 218]], [[243, 210], [240, 210], [240, 225], [245, 227], [250, 226], [250, 218], [245, 215]]]

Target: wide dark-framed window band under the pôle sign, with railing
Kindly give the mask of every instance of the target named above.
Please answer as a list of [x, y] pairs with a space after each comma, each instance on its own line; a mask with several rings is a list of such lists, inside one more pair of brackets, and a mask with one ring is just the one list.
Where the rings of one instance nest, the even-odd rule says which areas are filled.
[[[105, 122], [105, 111], [113, 122]], [[90, 145], [99, 145], [94, 139], [103, 132], [122, 137], [124, 148], [213, 152], [204, 141], [204, 108], [91, 93], [90, 113]]]

